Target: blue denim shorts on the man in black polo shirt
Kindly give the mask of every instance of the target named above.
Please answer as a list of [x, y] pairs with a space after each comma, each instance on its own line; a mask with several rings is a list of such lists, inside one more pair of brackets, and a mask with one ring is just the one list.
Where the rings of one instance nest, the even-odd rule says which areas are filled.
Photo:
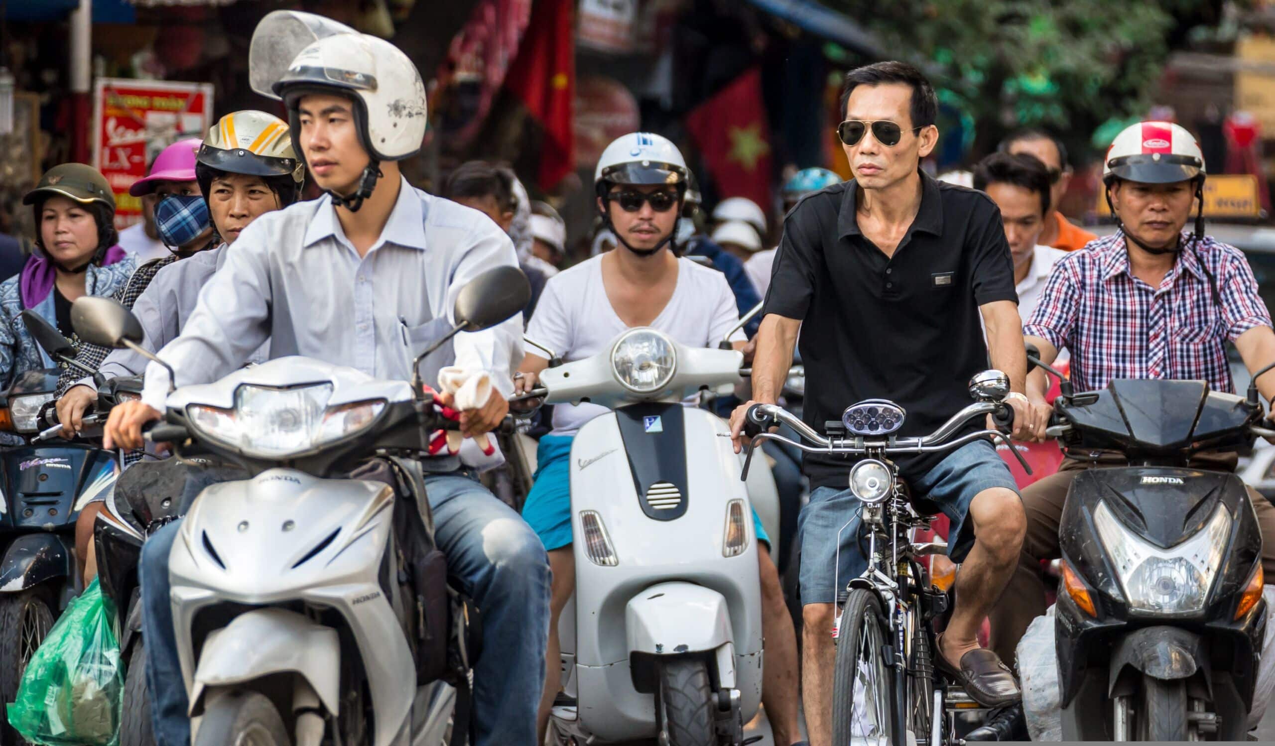
[[[986, 440], [965, 444], [947, 454], [924, 477], [910, 485], [917, 496], [936, 504], [951, 520], [947, 556], [960, 562], [974, 546], [974, 524], [966, 522], [969, 504], [983, 490], [1017, 485], [996, 448]], [[867, 570], [867, 537], [858, 541], [861, 502], [849, 488], [817, 487], [797, 519], [801, 541], [801, 602], [834, 603], [836, 592]], [[840, 533], [840, 557], [838, 557]], [[840, 560], [838, 562], [838, 560]], [[840, 567], [838, 567], [840, 565]]]

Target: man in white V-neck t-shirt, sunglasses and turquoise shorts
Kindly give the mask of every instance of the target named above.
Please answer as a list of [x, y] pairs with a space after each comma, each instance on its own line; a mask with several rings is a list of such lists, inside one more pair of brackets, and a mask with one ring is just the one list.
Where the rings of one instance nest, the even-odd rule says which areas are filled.
[[[686, 179], [681, 153], [659, 135], [629, 134], [603, 152], [597, 171], [598, 209], [618, 245], [615, 251], [548, 281], [528, 326], [528, 338], [566, 361], [603, 352], [632, 326], [652, 326], [690, 347], [709, 347], [725, 338], [740, 321], [725, 277], [667, 249], [677, 228]], [[737, 349], [746, 343], [738, 330], [731, 340]], [[528, 351], [515, 376], [515, 388], [519, 391], [533, 388], [547, 365], [536, 351]], [[694, 406], [694, 400], [688, 404]], [[585, 422], [604, 412], [604, 407], [588, 403], [553, 408], [553, 430], [541, 439], [536, 485], [523, 508], [523, 518], [544, 542], [553, 569], [547, 677], [538, 720], [542, 740], [560, 685], [558, 616], [575, 588], [571, 439]], [[797, 639], [778, 571], [765, 548], [769, 539], [756, 514], [754, 525], [761, 547], [761, 624], [766, 640], [762, 703], [775, 743], [788, 746], [801, 742]]]

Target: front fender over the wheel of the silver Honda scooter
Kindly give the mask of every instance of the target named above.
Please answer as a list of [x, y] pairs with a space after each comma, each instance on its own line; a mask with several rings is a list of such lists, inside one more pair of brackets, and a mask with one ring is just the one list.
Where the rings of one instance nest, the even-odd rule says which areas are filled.
[[203, 714], [204, 692], [274, 673], [296, 673], [337, 714], [340, 687], [340, 640], [337, 630], [283, 608], [259, 608], [209, 633], [199, 653], [190, 715]]

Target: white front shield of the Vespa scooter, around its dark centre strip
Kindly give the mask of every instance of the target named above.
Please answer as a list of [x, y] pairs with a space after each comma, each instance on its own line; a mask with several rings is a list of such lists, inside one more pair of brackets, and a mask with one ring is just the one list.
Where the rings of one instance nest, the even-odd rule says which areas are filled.
[[[725, 422], [701, 409], [677, 408], [683, 414], [686, 448], [686, 511], [680, 518], [657, 520], [644, 511], [615, 412], [589, 421], [571, 446], [576, 634], [574, 644], [562, 638], [562, 649], [575, 654], [579, 724], [602, 741], [655, 735], [654, 696], [634, 689], [630, 631], [615, 622], [626, 618], [630, 602], [658, 593], [653, 587], [662, 583], [697, 585], [724, 601], [746, 722], [761, 699], [761, 588], [748, 491], [740, 481], [738, 457], [729, 439], [722, 437], [729, 432]], [[727, 504], [736, 499], [745, 501], [747, 547], [725, 557]], [[616, 566], [589, 560], [579, 541], [583, 510], [602, 516]], [[706, 615], [687, 615], [685, 621], [685, 639], [664, 653], [704, 652], [715, 659], [713, 641], [722, 624]], [[560, 626], [560, 635], [564, 631]], [[692, 647], [692, 641], [705, 647]]]

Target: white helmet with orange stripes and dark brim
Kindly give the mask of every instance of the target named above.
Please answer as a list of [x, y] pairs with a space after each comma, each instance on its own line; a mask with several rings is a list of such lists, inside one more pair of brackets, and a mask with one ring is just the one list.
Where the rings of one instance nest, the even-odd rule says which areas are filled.
[[208, 195], [218, 173], [260, 176], [289, 205], [301, 195], [305, 163], [292, 147], [288, 122], [264, 111], [244, 110], [217, 121], [195, 154], [195, 179]]

